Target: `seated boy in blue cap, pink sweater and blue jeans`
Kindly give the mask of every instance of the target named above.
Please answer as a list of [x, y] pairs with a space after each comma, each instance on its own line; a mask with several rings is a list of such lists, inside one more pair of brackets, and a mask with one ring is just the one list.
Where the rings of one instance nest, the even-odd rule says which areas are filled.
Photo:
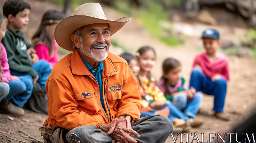
[[229, 120], [223, 114], [227, 81], [229, 80], [228, 57], [218, 52], [221, 45], [220, 34], [215, 29], [208, 29], [202, 35], [206, 52], [197, 55], [191, 73], [190, 87], [204, 94], [214, 96], [214, 116]]

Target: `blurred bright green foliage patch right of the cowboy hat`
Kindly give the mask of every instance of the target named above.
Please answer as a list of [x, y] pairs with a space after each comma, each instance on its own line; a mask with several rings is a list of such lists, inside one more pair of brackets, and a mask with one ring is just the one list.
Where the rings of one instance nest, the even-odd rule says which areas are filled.
[[[168, 21], [169, 13], [164, 11], [161, 4], [156, 3], [155, 0], [148, 0], [142, 2], [142, 7], [138, 10], [131, 5], [121, 0], [116, 0], [116, 5], [119, 10], [131, 14], [136, 18], [147, 31], [159, 41], [167, 45], [177, 46], [180, 44], [179, 39], [172, 33], [172, 26]], [[168, 27], [164, 29], [161, 22], [169, 23]], [[171, 32], [171, 35], [166, 36], [166, 31]]]

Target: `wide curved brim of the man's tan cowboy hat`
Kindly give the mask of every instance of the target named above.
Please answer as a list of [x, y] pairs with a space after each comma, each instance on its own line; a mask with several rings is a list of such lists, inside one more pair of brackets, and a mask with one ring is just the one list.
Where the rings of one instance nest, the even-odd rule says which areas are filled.
[[73, 41], [71, 40], [71, 35], [80, 27], [94, 24], [94, 23], [108, 23], [110, 26], [110, 36], [115, 34], [120, 30], [131, 18], [123, 17], [121, 19], [105, 20], [99, 19], [86, 15], [72, 15], [61, 20], [60, 23], [55, 28], [55, 40], [58, 45], [63, 49], [68, 51], [74, 51]]

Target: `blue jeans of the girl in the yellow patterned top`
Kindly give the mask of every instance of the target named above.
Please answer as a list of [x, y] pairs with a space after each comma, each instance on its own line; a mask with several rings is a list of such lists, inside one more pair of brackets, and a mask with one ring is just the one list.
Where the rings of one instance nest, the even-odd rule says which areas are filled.
[[[188, 116], [186, 116], [183, 112], [181, 112], [180, 109], [175, 107], [170, 101], [167, 101], [166, 105], [162, 109], [164, 109], [166, 107], [170, 110], [170, 114], [168, 116], [168, 119], [170, 121], [173, 122], [174, 118], [180, 118], [180, 119], [185, 120], [186, 122], [188, 122], [188, 119], [189, 119]], [[152, 109], [151, 112], [141, 111], [140, 112], [140, 117], [146, 117], [148, 115], [156, 116], [156, 114], [154, 112], [156, 112], [158, 110], [162, 110], [162, 109]]]

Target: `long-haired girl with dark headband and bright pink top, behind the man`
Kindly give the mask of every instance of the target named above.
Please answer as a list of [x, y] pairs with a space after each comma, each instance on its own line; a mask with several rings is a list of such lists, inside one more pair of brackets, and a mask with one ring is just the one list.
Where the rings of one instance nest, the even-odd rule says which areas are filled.
[[52, 67], [59, 61], [58, 44], [54, 32], [57, 24], [64, 18], [64, 14], [57, 10], [46, 11], [39, 29], [32, 37], [39, 59], [46, 60]]

